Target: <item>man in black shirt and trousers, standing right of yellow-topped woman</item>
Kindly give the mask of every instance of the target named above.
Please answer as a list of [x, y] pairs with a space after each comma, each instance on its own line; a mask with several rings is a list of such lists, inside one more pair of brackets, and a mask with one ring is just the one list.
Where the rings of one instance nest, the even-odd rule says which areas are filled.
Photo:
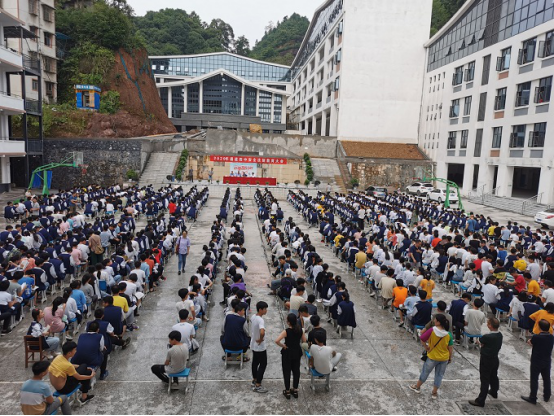
[[487, 326], [491, 333], [479, 340], [481, 344], [481, 363], [479, 365], [481, 394], [477, 399], [469, 402], [470, 405], [475, 407], [485, 407], [485, 402], [489, 395], [493, 399], [498, 399], [498, 390], [500, 389], [500, 380], [498, 378], [500, 359], [498, 355], [502, 349], [504, 337], [499, 332], [500, 321], [498, 319], [489, 319]]

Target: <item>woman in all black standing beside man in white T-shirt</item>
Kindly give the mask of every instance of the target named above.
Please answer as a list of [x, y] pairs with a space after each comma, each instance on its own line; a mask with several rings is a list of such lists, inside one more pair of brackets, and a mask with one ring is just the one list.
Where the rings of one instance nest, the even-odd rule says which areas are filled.
[[[306, 334], [302, 331], [298, 318], [294, 314], [287, 317], [288, 328], [279, 335], [275, 341], [278, 347], [281, 348], [283, 376], [285, 379], [285, 390], [283, 395], [287, 400], [290, 400], [291, 395], [298, 399], [298, 387], [300, 385], [300, 365], [302, 361], [302, 343], [306, 343]], [[282, 341], [285, 344], [282, 344]], [[294, 377], [293, 389], [290, 388], [291, 373]]]

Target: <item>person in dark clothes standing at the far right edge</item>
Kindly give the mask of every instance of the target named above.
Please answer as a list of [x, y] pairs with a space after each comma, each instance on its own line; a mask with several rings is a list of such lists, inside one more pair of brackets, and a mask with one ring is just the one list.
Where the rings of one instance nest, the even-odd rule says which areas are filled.
[[527, 403], [537, 404], [539, 393], [539, 376], [544, 383], [544, 401], [548, 403], [552, 396], [552, 382], [550, 373], [552, 370], [552, 350], [554, 349], [554, 336], [551, 334], [550, 322], [539, 322], [540, 334], [534, 335], [529, 340], [533, 347], [531, 356], [531, 394], [529, 397], [521, 397]]

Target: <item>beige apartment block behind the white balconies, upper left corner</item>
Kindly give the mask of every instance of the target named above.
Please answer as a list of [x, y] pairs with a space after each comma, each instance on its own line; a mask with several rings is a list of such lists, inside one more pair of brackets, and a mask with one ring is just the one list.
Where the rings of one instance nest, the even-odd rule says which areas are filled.
[[[40, 60], [42, 79], [28, 77], [29, 99], [55, 103], [57, 97], [56, 9], [54, 0], [2, 0], [4, 10], [24, 22], [35, 37], [13, 39], [8, 44], [23, 55]], [[40, 88], [39, 88], [40, 84]]]

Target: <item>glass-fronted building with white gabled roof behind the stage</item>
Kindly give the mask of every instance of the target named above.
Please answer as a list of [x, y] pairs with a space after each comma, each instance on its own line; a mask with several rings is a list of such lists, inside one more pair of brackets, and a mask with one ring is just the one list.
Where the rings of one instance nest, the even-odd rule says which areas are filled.
[[231, 53], [151, 57], [163, 106], [179, 131], [286, 130], [289, 68]]

